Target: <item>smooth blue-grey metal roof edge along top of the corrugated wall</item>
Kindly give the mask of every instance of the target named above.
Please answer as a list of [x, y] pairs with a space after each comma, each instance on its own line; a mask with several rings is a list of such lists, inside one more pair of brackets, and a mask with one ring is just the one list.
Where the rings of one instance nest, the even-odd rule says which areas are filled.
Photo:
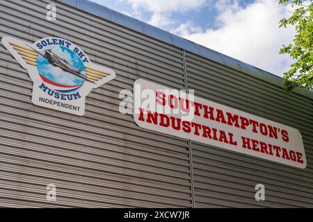
[[[124, 15], [115, 10], [111, 10], [110, 8], [99, 5], [98, 3], [88, 0], [56, 1], [65, 3], [74, 8], [78, 8], [79, 10], [96, 15], [98, 17], [101, 17], [102, 19], [109, 20], [110, 22], [119, 24], [120, 26], [124, 26], [138, 33], [153, 37], [162, 42], [172, 44], [173, 46], [177, 46], [180, 49], [195, 53], [196, 55], [208, 58], [209, 60], [213, 60], [214, 62], [218, 62], [220, 64], [226, 65], [227, 67], [231, 67], [232, 69], [242, 71], [246, 74], [249, 74], [250, 76], [254, 76], [256, 78], [265, 80], [268, 83], [272, 83], [273, 85], [278, 85], [279, 87], [282, 87], [282, 85], [284, 84], [283, 78], [275, 76], [268, 71], [264, 71], [257, 67], [253, 67], [252, 65], [248, 65], [245, 62], [241, 62], [239, 60], [231, 58], [230, 56], [218, 53], [217, 51], [209, 49], [200, 44], [196, 44], [195, 42], [186, 40], [183, 37], [179, 37], [178, 35], [174, 35], [172, 33], [169, 33], [168, 31], [164, 31], [161, 28], [157, 28], [145, 22], [141, 22], [140, 20], [129, 17], [128, 15]], [[294, 90], [294, 92], [313, 99], [313, 90], [298, 87]]]

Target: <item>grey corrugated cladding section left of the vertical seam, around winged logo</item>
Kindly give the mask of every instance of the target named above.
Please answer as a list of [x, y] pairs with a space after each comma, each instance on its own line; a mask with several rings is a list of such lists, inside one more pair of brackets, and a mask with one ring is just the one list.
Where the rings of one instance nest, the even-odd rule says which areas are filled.
[[120, 90], [138, 78], [184, 89], [182, 50], [56, 1], [0, 0], [0, 13], [0, 38], [63, 37], [117, 74], [88, 95], [83, 117], [49, 110], [31, 103], [27, 71], [0, 44], [1, 207], [191, 207], [188, 142], [119, 112]]

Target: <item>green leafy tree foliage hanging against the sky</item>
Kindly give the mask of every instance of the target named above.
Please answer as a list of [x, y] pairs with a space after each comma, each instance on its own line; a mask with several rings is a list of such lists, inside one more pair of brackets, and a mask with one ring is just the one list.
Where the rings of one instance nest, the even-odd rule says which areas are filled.
[[295, 87], [313, 87], [313, 0], [279, 0], [279, 4], [290, 3], [296, 8], [289, 18], [282, 18], [279, 27], [292, 25], [296, 29], [294, 40], [282, 45], [280, 54], [289, 54], [296, 60], [284, 73], [284, 90], [291, 92]]

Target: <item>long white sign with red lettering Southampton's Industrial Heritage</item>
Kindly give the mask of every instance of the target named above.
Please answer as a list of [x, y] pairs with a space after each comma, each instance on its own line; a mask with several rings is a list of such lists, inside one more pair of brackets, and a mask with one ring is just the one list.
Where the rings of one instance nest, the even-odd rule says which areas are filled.
[[134, 83], [134, 120], [142, 128], [304, 169], [296, 128], [147, 80]]

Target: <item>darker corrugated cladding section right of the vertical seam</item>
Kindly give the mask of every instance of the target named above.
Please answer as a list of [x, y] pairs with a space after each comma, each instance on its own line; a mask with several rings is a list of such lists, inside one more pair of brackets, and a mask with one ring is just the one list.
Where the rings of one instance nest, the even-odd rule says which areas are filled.
[[312, 101], [191, 53], [186, 71], [196, 96], [298, 128], [307, 157], [303, 170], [193, 142], [195, 207], [313, 207]]

